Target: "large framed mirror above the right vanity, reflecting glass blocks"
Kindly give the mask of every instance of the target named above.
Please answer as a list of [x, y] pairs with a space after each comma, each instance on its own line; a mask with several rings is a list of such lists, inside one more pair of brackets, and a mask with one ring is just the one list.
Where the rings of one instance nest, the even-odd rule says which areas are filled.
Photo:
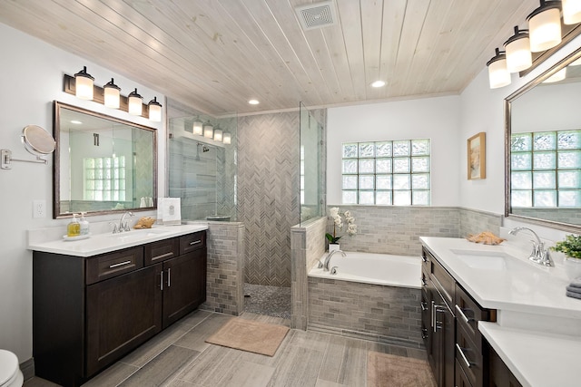
[[505, 216], [581, 232], [581, 49], [506, 99]]

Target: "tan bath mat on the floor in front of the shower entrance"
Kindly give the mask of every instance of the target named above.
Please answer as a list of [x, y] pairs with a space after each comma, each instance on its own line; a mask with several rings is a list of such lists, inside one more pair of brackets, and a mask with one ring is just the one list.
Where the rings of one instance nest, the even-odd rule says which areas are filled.
[[287, 326], [232, 318], [208, 337], [206, 343], [274, 356], [288, 332]]

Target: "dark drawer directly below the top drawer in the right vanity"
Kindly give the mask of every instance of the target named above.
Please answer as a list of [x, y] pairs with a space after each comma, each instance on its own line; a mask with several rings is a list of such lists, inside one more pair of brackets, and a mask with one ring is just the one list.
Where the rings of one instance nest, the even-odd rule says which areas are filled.
[[484, 377], [484, 356], [482, 339], [478, 343], [472, 340], [471, 334], [462, 326], [456, 325], [456, 360], [474, 387], [482, 386]]

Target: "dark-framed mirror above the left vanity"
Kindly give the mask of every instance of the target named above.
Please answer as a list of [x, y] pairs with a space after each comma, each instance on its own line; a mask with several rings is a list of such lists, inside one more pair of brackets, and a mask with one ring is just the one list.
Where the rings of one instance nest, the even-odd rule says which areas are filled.
[[53, 218], [156, 208], [157, 131], [53, 104]]

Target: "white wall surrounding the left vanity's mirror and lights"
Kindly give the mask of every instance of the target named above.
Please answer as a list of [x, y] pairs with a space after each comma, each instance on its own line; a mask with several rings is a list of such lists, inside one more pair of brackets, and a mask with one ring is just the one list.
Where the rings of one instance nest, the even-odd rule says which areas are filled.
[[[165, 125], [113, 111], [96, 102], [76, 99], [63, 92], [63, 75], [73, 75], [87, 66], [95, 83], [103, 85], [114, 77], [127, 95], [134, 87], [148, 102], [159, 92], [112, 73], [94, 63], [0, 24], [0, 148], [13, 151], [15, 159], [34, 160], [23, 148], [20, 132], [36, 124], [52, 133], [53, 101], [100, 111], [158, 129], [158, 170], [165, 169]], [[0, 169], [0, 348], [16, 353], [19, 361], [32, 356], [32, 252], [26, 249], [26, 230], [64, 226], [67, 220], [53, 220], [52, 158], [49, 165], [14, 162], [13, 169]], [[162, 174], [163, 176], [163, 174]], [[158, 179], [158, 195], [165, 192], [165, 179]], [[34, 199], [46, 201], [46, 218], [32, 218]], [[91, 217], [89, 221], [109, 217]]]

